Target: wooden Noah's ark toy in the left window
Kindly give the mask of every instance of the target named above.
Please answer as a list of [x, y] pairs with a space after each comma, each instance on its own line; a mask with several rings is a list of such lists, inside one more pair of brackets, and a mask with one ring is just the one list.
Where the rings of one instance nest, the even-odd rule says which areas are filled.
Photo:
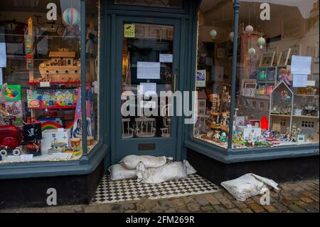
[[75, 60], [75, 51], [59, 48], [58, 51], [50, 51], [51, 60], [39, 65], [41, 78], [33, 80], [49, 82], [75, 82], [80, 81], [80, 60]]

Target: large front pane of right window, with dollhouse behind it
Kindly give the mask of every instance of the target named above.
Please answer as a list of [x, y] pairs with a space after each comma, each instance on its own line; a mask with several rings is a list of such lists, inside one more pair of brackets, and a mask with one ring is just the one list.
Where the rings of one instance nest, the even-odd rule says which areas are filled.
[[[236, 98], [270, 108], [237, 116], [260, 124], [257, 134], [237, 137], [242, 126], [235, 119], [233, 147], [319, 143], [319, 1], [270, 1], [270, 20], [260, 16], [261, 3], [240, 4]], [[250, 93], [246, 83], [254, 84]]]

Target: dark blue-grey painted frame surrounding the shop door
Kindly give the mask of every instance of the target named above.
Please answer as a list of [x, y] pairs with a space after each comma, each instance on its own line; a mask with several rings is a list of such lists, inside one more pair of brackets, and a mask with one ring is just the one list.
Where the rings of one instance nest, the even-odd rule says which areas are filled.
[[[122, 9], [114, 9], [112, 0], [102, 1], [101, 6], [101, 70], [100, 70], [100, 85], [102, 86], [102, 94], [100, 100], [100, 112], [103, 116], [102, 125], [100, 126], [100, 134], [105, 144], [109, 145], [107, 157], [105, 159], [105, 167], [110, 167], [111, 164], [117, 163], [117, 139], [113, 136], [113, 129], [116, 127], [112, 110], [114, 108], [114, 100], [112, 94], [116, 94], [114, 80], [112, 77], [117, 71], [116, 63], [116, 47], [112, 45], [117, 39], [114, 34], [117, 31], [116, 21], [118, 16], [141, 16], [144, 18], [158, 19], [178, 19], [180, 21], [180, 60], [178, 68], [179, 74], [176, 81], [177, 88], [183, 90], [194, 90], [194, 75], [196, 75], [196, 39], [197, 39], [197, 16], [199, 1], [184, 0], [183, 13], [178, 14], [175, 9], [135, 6], [130, 9], [130, 6], [123, 6]], [[137, 10], [141, 9], [141, 10]], [[114, 97], [114, 96], [113, 96]], [[101, 117], [102, 118], [102, 117]], [[183, 117], [177, 117], [176, 128], [176, 160], [181, 161], [186, 159], [186, 147], [184, 146], [185, 139], [189, 136], [189, 131], [193, 125], [184, 125]]]

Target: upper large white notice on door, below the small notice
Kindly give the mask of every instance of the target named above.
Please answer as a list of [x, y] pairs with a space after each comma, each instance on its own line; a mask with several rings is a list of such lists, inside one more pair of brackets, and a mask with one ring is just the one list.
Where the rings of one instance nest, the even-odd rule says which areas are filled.
[[137, 63], [138, 79], [160, 79], [160, 63], [138, 61]]

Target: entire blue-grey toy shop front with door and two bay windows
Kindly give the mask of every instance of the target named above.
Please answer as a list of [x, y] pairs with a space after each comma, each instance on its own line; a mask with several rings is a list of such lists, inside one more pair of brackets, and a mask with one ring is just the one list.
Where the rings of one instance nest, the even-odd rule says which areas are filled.
[[130, 154], [319, 176], [319, 1], [1, 2], [0, 85], [0, 208], [88, 203]]

